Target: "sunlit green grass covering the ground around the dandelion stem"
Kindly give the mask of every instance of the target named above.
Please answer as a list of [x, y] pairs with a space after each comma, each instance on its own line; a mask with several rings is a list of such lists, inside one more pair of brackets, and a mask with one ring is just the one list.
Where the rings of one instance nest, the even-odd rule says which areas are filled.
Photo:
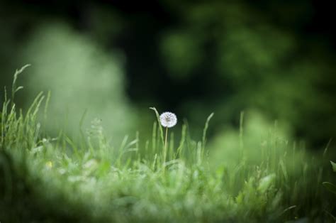
[[327, 149], [293, 148], [274, 131], [259, 162], [244, 145], [241, 162], [211, 168], [211, 117], [200, 141], [184, 125], [166, 157], [157, 122], [146, 143], [137, 134], [119, 148], [99, 120], [77, 141], [62, 131], [50, 138], [37, 118], [43, 94], [23, 113], [13, 103], [17, 89], [14, 82], [0, 118], [0, 222], [335, 221], [335, 196], [323, 187], [335, 181]]

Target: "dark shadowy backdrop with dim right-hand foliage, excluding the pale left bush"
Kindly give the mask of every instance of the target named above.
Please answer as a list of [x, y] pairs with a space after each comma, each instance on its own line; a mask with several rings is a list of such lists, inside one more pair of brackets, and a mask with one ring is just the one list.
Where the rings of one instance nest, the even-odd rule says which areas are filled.
[[30, 63], [31, 36], [55, 21], [119, 52], [138, 126], [154, 104], [196, 126], [215, 112], [212, 135], [238, 126], [242, 110], [279, 119], [312, 148], [336, 135], [329, 1], [1, 1], [1, 87]]

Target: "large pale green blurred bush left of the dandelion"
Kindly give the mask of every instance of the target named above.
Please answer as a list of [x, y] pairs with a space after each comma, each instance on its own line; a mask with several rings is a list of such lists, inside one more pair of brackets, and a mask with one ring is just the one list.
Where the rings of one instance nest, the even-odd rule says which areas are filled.
[[21, 51], [21, 61], [28, 60], [33, 66], [25, 78], [25, 97], [34, 98], [41, 90], [52, 95], [47, 130], [74, 135], [97, 118], [113, 141], [121, 143], [135, 115], [123, 94], [123, 60], [117, 53], [107, 55], [68, 26], [48, 23]]

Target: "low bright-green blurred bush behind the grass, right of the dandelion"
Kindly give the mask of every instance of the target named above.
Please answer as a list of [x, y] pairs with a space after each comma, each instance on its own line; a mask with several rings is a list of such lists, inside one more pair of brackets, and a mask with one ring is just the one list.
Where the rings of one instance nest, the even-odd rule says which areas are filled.
[[[289, 126], [279, 126], [276, 122], [271, 124], [271, 121], [258, 112], [245, 114], [245, 119], [247, 120], [242, 124], [241, 131], [228, 128], [220, 131], [211, 141], [209, 147], [217, 148], [211, 153], [213, 168], [225, 165], [226, 168], [232, 170], [237, 163], [256, 165], [269, 161], [269, 157], [263, 154], [265, 149], [271, 150], [276, 146], [276, 150], [267, 151], [267, 153], [279, 156], [288, 148], [293, 147]], [[291, 154], [288, 156], [287, 161], [293, 159]]]

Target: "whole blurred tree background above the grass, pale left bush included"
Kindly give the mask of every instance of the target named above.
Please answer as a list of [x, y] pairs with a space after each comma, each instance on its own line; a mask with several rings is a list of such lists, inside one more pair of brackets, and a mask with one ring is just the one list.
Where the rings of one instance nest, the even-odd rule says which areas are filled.
[[245, 111], [254, 138], [279, 120], [323, 148], [336, 136], [333, 23], [324, 1], [1, 1], [0, 87], [31, 63], [18, 99], [50, 90], [55, 134], [84, 116], [116, 141], [150, 134], [155, 106], [199, 135], [215, 112], [215, 144]]

